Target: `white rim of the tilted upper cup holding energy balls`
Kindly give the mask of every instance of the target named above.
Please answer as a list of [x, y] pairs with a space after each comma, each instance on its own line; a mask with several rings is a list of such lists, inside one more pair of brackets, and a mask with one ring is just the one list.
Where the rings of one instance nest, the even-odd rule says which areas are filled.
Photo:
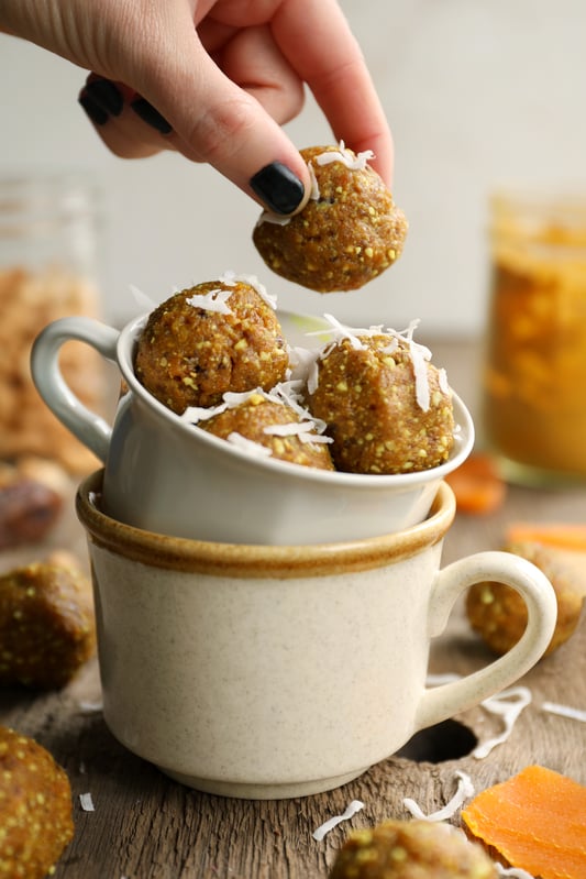
[[407, 490], [428, 483], [432, 480], [443, 480], [449, 473], [462, 464], [469, 455], [475, 440], [475, 430], [472, 416], [461, 397], [452, 391], [452, 402], [454, 408], [454, 421], [456, 431], [454, 433], [454, 446], [450, 458], [438, 466], [428, 470], [419, 470], [413, 473], [346, 473], [344, 471], [321, 470], [319, 468], [302, 466], [289, 461], [281, 461], [270, 457], [258, 457], [250, 454], [244, 449], [226, 442], [220, 437], [215, 437], [206, 430], [198, 430], [172, 409], [164, 406], [139, 382], [134, 373], [133, 353], [139, 332], [143, 329], [148, 319], [150, 312], [140, 315], [131, 320], [120, 331], [117, 343], [118, 365], [122, 376], [130, 388], [144, 405], [150, 407], [159, 418], [168, 421], [174, 431], [179, 431], [184, 436], [189, 436], [195, 443], [201, 443], [217, 452], [245, 461], [252, 471], [274, 471], [283, 477], [305, 480], [310, 483], [325, 483], [340, 487], [355, 487], [380, 490], [388, 492], [392, 486], [398, 491]]

